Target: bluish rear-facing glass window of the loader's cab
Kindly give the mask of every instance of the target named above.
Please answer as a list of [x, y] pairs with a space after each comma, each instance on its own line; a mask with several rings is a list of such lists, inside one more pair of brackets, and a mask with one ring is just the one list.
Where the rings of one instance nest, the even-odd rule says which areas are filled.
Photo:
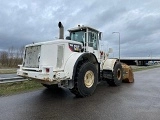
[[83, 42], [85, 31], [71, 32], [71, 40]]

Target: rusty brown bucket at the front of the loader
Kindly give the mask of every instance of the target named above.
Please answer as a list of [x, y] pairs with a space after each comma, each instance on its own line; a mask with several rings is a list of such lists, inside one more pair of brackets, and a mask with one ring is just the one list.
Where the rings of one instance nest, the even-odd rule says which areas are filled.
[[133, 74], [132, 68], [125, 63], [122, 63], [122, 68], [123, 68], [123, 80], [122, 81], [126, 83], [133, 83], [134, 74]]

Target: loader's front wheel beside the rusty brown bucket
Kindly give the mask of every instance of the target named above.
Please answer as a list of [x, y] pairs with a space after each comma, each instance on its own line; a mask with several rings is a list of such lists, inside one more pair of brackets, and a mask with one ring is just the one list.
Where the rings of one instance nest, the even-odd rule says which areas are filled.
[[107, 83], [110, 86], [119, 86], [123, 79], [123, 69], [120, 62], [117, 62], [113, 69], [113, 79], [108, 79]]

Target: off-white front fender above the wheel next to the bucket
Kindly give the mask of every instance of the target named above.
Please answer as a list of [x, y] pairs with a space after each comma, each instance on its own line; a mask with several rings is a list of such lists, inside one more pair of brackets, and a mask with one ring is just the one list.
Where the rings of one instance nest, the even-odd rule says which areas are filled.
[[107, 59], [104, 61], [102, 69], [111, 70], [113, 72], [113, 68], [116, 62], [117, 62], [117, 59]]

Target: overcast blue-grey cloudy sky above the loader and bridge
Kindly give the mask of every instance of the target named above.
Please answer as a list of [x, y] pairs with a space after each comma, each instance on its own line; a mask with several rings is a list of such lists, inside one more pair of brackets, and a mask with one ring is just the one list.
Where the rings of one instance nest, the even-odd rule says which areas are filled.
[[54, 40], [58, 22], [103, 32], [104, 49], [118, 56], [160, 56], [160, 0], [0, 0], [0, 50]]

